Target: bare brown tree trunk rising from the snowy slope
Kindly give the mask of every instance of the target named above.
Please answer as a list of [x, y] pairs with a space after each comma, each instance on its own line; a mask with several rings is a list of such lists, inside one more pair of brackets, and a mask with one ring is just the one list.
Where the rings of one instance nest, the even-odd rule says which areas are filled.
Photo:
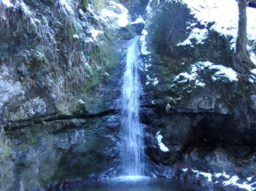
[[236, 39], [236, 57], [239, 60], [243, 74], [249, 73], [254, 67], [247, 51], [247, 16], [246, 16], [247, 0], [238, 0], [239, 20], [238, 33]]

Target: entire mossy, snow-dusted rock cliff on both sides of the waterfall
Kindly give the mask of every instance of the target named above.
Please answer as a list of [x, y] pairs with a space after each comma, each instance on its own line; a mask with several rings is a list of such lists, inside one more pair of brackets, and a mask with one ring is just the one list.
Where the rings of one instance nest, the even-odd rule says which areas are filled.
[[[198, 17], [212, 7], [123, 0], [131, 20], [108, 0], [8, 2], [0, 4], [2, 190], [118, 173], [120, 79], [135, 13], [146, 20], [137, 31], [147, 175], [224, 190], [256, 181], [256, 71], [238, 72], [234, 27]], [[240, 182], [223, 187], [233, 176]]]

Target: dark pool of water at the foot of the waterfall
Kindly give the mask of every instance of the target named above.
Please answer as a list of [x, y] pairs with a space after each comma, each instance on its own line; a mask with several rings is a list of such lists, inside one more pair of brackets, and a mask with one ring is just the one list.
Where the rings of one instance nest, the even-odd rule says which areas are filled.
[[207, 191], [208, 189], [172, 179], [121, 176], [90, 182], [70, 191]]

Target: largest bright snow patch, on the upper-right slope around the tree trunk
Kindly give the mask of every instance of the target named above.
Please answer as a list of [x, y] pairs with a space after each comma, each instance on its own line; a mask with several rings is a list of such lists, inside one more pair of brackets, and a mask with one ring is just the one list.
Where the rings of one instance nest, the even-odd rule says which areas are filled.
[[[177, 2], [177, 0], [168, 0], [169, 2]], [[210, 30], [217, 31], [221, 36], [231, 36], [230, 49], [236, 50], [236, 37], [238, 30], [238, 5], [236, 0], [180, 0], [179, 2], [187, 4], [193, 15], [201, 25], [207, 26], [211, 23]], [[227, 14], [228, 13], [228, 14]], [[256, 40], [256, 14], [255, 9], [247, 7], [247, 37], [248, 40]], [[191, 24], [187, 29], [191, 29], [189, 37], [177, 44], [177, 46], [191, 45], [191, 39], [197, 40], [197, 44], [203, 44], [208, 38], [208, 30], [198, 29]], [[253, 58], [251, 58], [253, 59]], [[253, 61], [254, 62], [254, 61]], [[256, 63], [256, 58], [255, 62]]]

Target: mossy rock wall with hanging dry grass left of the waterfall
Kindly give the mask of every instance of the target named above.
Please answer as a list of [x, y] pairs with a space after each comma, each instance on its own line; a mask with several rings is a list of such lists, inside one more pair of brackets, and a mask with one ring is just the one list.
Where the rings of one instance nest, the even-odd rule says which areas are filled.
[[104, 0], [0, 9], [1, 190], [115, 167], [125, 40], [136, 35], [128, 11]]

